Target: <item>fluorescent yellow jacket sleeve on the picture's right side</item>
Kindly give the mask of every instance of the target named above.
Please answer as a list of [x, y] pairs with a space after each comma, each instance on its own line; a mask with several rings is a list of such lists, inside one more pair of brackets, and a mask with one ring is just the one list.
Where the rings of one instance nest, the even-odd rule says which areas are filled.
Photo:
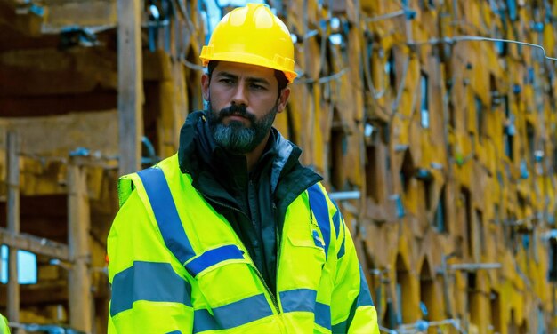
[[377, 312], [373, 304], [366, 275], [359, 265], [358, 256], [350, 231], [340, 211], [336, 209], [333, 219], [340, 219], [336, 226], [340, 231], [336, 239], [335, 287], [331, 298], [333, 333], [379, 334]]

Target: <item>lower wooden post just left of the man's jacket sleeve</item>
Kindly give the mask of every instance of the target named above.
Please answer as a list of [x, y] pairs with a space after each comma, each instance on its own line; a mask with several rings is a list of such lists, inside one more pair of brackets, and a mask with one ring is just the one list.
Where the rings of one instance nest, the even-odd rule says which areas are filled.
[[90, 333], [92, 324], [91, 276], [89, 274], [90, 210], [83, 167], [68, 165], [69, 323]]

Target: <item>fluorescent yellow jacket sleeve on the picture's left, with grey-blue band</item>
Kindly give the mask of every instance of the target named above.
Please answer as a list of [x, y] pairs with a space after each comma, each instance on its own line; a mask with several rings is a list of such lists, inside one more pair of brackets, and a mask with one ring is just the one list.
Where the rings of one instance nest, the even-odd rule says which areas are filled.
[[114, 219], [108, 254], [109, 333], [192, 332], [188, 276], [165, 247], [157, 222], [137, 190]]

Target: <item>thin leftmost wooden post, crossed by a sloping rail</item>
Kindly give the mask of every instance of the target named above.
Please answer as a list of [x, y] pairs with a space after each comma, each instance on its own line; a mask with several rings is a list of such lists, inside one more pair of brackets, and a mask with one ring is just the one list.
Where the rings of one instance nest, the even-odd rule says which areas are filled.
[[[19, 143], [16, 132], [9, 131], [6, 142], [6, 164], [8, 167], [8, 198], [6, 203], [8, 231], [20, 233], [20, 159]], [[18, 282], [18, 249], [9, 248], [8, 258], [8, 305], [7, 315], [10, 322], [20, 322], [20, 285]]]

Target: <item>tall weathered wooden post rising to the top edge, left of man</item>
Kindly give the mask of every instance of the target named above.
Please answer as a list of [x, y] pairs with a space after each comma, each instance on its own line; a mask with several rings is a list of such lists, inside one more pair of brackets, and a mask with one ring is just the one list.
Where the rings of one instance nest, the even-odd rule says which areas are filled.
[[117, 0], [120, 175], [141, 167], [143, 73], [141, 1]]

